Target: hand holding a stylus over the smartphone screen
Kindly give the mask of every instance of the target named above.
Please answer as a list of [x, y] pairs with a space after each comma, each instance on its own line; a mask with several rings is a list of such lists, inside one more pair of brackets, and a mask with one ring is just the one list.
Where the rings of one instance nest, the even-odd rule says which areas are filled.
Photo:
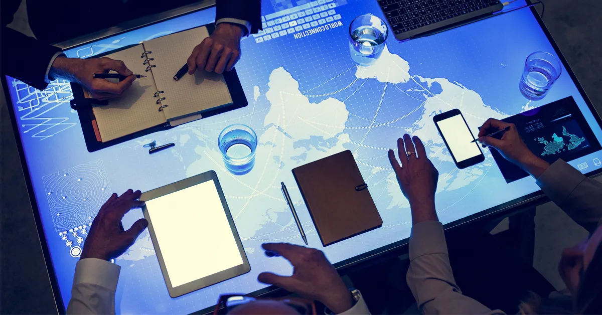
[[[510, 129], [506, 131], [501, 139], [495, 139], [493, 137], [485, 137], [486, 134], [500, 130], [510, 126]], [[521, 139], [518, 134], [517, 126], [514, 123], [506, 123], [501, 120], [489, 118], [479, 130], [479, 142], [485, 146], [492, 146], [500, 152], [506, 160], [516, 164], [521, 169], [533, 175], [535, 178], [539, 178], [542, 173], [550, 166], [546, 161], [539, 157], [536, 157], [533, 152]]]

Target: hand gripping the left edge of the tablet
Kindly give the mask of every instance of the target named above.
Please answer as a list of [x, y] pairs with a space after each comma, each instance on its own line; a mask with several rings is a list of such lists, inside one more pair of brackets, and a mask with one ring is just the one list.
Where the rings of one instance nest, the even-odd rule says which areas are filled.
[[129, 210], [144, 205], [144, 201], [136, 200], [140, 195], [140, 190], [132, 192], [131, 189], [119, 197], [116, 193], [111, 195], [92, 221], [92, 228], [85, 239], [81, 259], [98, 258], [108, 261], [119, 257], [134, 244], [138, 235], [149, 223], [146, 219], [140, 219], [124, 231], [121, 219]]

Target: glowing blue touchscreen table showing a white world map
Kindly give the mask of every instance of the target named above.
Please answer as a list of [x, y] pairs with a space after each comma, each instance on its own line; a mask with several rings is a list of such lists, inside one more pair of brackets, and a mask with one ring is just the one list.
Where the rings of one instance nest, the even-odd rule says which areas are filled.
[[[117, 312], [190, 313], [211, 307], [220, 293], [264, 289], [256, 280], [260, 272], [292, 272], [287, 261], [268, 258], [261, 249], [264, 242], [303, 243], [280, 191], [281, 181], [295, 202], [309, 246], [323, 250], [336, 266], [406, 244], [409, 205], [386, 157], [404, 133], [420, 136], [439, 170], [436, 207], [446, 227], [507, 211], [541, 195], [533, 178], [506, 183], [487, 149], [485, 162], [456, 169], [433, 125], [436, 113], [459, 108], [476, 134], [488, 117], [507, 117], [573, 96], [602, 141], [600, 118], [566, 63], [544, 99], [529, 101], [521, 95], [518, 84], [526, 57], [535, 51], [559, 54], [529, 8], [405, 43], [389, 36], [377, 63], [359, 68], [350, 58], [349, 23], [364, 13], [382, 16], [376, 0], [284, 2], [264, 0], [264, 31], [242, 41], [243, 57], [236, 69], [247, 107], [97, 152], [85, 147], [78, 115], [69, 106], [69, 83], [54, 81], [39, 91], [3, 78], [60, 311], [69, 301], [90, 223], [113, 192], [144, 192], [208, 170], [217, 172], [249, 257], [249, 273], [172, 299], [147, 231], [114, 261], [122, 267]], [[76, 46], [66, 54], [92, 57], [210, 23], [214, 14], [214, 8], [196, 11]], [[255, 166], [246, 175], [226, 170], [217, 145], [220, 131], [232, 123], [249, 125], [258, 136]], [[149, 155], [143, 145], [153, 140], [175, 147]], [[323, 248], [291, 169], [345, 149], [356, 158], [383, 226]], [[597, 151], [570, 164], [594, 175], [602, 168], [600, 159], [602, 152]], [[141, 211], [131, 211], [124, 226], [140, 217]], [[184, 223], [179, 228], [197, 226]]]

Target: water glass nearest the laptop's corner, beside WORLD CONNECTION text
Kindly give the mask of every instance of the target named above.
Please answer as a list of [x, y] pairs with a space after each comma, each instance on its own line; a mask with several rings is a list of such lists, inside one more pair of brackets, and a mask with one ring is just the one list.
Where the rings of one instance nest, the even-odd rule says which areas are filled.
[[362, 67], [374, 64], [385, 48], [388, 35], [386, 23], [377, 16], [364, 14], [353, 19], [349, 25], [349, 50], [353, 61]]

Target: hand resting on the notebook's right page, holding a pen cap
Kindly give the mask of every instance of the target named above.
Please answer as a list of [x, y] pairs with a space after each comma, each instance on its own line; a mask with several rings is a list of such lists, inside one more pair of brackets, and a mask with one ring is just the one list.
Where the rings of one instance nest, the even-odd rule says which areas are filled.
[[240, 59], [240, 38], [243, 27], [232, 23], [219, 23], [211, 36], [194, 47], [188, 57], [188, 74], [197, 69], [223, 73], [230, 71]]

